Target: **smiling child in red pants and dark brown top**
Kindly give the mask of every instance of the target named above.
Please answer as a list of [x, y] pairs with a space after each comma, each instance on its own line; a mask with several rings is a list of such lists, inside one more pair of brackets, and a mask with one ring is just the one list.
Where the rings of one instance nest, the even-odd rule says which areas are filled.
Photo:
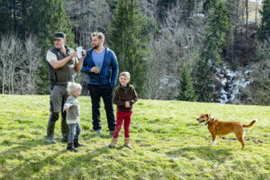
[[124, 146], [127, 148], [130, 147], [130, 118], [132, 114], [132, 104], [136, 103], [138, 100], [135, 88], [133, 85], [130, 85], [130, 73], [122, 72], [119, 75], [119, 81], [121, 85], [118, 85], [115, 88], [115, 93], [113, 95], [113, 103], [117, 105], [117, 115], [116, 115], [116, 126], [114, 129], [112, 142], [109, 145], [109, 148], [113, 148], [121, 130], [121, 124], [123, 121], [124, 126]]

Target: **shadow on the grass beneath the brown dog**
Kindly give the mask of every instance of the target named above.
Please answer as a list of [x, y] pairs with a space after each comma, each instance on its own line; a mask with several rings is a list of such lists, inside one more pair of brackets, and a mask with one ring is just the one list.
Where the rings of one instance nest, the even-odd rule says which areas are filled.
[[177, 150], [166, 152], [168, 157], [186, 157], [188, 159], [194, 159], [196, 157], [204, 160], [218, 160], [223, 163], [226, 159], [232, 155], [233, 148], [217, 148], [211, 146], [202, 147], [183, 147]]

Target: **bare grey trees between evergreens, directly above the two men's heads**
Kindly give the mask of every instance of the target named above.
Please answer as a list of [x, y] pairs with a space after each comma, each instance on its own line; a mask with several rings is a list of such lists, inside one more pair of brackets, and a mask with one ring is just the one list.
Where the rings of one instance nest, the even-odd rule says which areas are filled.
[[66, 10], [76, 33], [76, 43], [85, 49], [91, 47], [93, 31], [107, 33], [112, 14], [104, 0], [67, 0]]

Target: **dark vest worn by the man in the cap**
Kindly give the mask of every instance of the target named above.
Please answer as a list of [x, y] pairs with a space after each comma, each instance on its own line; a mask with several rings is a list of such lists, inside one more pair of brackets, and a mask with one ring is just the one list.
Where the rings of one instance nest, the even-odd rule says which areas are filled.
[[[49, 50], [57, 56], [58, 60], [61, 60], [63, 58], [67, 58], [67, 56], [70, 53], [69, 48], [67, 48], [67, 55], [64, 55], [61, 50], [56, 49], [56, 48], [52, 48]], [[49, 62], [48, 62], [48, 64], [49, 64]], [[70, 61], [68, 61], [68, 63], [66, 65], [64, 65], [63, 67], [60, 67], [58, 69], [54, 69], [49, 64], [50, 86], [51, 87], [54, 85], [67, 86], [67, 82], [69, 82], [69, 81], [74, 82], [75, 76], [76, 76], [74, 65], [75, 65], [75, 62], [73, 59], [71, 59]]]

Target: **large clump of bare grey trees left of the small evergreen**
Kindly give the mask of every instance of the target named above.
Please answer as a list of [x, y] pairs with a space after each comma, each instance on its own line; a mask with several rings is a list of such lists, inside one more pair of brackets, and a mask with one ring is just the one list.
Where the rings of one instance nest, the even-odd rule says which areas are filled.
[[[166, 21], [160, 27], [160, 36], [152, 40], [153, 53], [148, 64], [148, 98], [175, 99], [178, 94], [179, 69], [184, 61], [193, 63], [194, 53], [200, 47], [203, 32], [202, 21], [187, 27], [181, 14], [181, 4], [177, 4], [166, 14]], [[194, 20], [203, 18], [200, 14]]]

